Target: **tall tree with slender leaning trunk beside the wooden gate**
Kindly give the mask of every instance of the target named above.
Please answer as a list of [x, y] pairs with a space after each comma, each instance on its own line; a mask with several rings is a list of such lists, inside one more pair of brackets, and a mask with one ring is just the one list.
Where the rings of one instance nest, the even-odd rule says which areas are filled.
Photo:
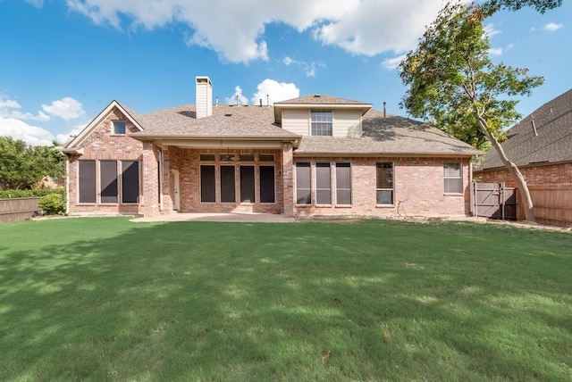
[[520, 119], [520, 95], [543, 84], [526, 69], [494, 64], [484, 31], [484, 19], [494, 10], [478, 4], [446, 4], [427, 27], [416, 50], [400, 63], [400, 77], [408, 87], [401, 105], [412, 116], [432, 119], [440, 129], [482, 147], [481, 137], [498, 152], [517, 180], [526, 220], [535, 222], [534, 205], [517, 165], [509, 161], [499, 140], [504, 129]]

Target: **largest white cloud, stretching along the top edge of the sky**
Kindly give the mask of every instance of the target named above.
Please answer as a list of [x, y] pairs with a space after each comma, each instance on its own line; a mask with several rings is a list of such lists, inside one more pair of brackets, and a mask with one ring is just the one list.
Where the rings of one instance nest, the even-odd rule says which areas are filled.
[[[67, 5], [118, 29], [180, 22], [189, 27], [188, 44], [213, 49], [223, 60], [250, 62], [268, 59], [272, 46], [266, 44], [265, 26], [274, 22], [309, 31], [322, 44], [350, 54], [402, 53], [416, 46], [442, 0], [67, 0]], [[310, 65], [307, 75], [313, 74]]]

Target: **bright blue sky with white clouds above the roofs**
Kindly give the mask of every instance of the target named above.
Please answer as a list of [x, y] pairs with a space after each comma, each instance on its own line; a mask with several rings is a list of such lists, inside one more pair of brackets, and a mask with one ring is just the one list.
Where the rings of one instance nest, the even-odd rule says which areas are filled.
[[[0, 0], [0, 135], [66, 141], [118, 100], [135, 112], [321, 93], [399, 108], [394, 62], [441, 0]], [[572, 87], [572, 5], [488, 21], [492, 57], [545, 78], [524, 115]]]

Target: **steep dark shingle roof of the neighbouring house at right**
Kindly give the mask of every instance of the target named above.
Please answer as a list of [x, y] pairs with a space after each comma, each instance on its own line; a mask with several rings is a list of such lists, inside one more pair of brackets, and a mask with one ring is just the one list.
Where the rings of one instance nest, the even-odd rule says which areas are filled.
[[[502, 149], [519, 167], [572, 161], [572, 89], [543, 104], [507, 131]], [[504, 168], [499, 154], [484, 155], [478, 170]]]

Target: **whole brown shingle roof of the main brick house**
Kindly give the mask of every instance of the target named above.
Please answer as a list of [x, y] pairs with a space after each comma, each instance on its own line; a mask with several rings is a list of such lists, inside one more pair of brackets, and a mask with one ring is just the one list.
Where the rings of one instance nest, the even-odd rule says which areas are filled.
[[[307, 104], [305, 100], [315, 97], [307, 95], [284, 103]], [[139, 128], [136, 133], [128, 134], [139, 140], [163, 140], [168, 145], [197, 145], [204, 142], [223, 141], [227, 145], [260, 144], [280, 145], [280, 142], [290, 141], [296, 149], [294, 155], [414, 155], [414, 156], [474, 156], [482, 154], [471, 145], [448, 136], [439, 129], [396, 115], [386, 114], [371, 109], [371, 104], [345, 100], [331, 96], [320, 96], [321, 105], [331, 102], [332, 105], [353, 105], [357, 110], [365, 108], [362, 116], [363, 137], [302, 137], [289, 130], [282, 129], [276, 122], [276, 106], [255, 105], [228, 105], [217, 104], [213, 106], [213, 114], [197, 119], [196, 107], [193, 104], [182, 105], [148, 114], [138, 114], [124, 105], [114, 101], [104, 112], [94, 119], [88, 128], [84, 129], [78, 137], [66, 145], [64, 151], [77, 152], [81, 142], [95, 129], [105, 116], [113, 111], [114, 107], [120, 109], [128, 119]], [[308, 101], [311, 102], [311, 101]], [[279, 103], [279, 104], [284, 104]], [[338, 108], [336, 106], [334, 108]], [[257, 145], [258, 145], [257, 144]]]

